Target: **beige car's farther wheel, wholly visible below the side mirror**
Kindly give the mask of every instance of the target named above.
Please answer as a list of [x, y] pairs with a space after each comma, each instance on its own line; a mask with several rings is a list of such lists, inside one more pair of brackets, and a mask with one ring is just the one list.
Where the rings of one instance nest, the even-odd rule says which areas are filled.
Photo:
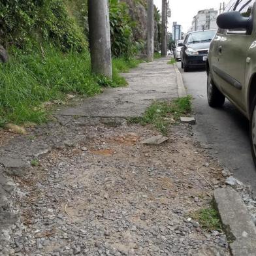
[[225, 103], [225, 96], [219, 91], [212, 81], [212, 73], [208, 72], [207, 76], [207, 98], [209, 106], [212, 108], [223, 106]]

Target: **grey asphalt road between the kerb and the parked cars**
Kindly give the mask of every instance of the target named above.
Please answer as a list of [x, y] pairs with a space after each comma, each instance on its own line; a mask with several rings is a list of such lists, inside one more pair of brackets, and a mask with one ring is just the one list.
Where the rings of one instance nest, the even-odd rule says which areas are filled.
[[206, 71], [184, 72], [177, 63], [188, 93], [193, 95], [197, 125], [194, 132], [199, 141], [208, 144], [221, 165], [229, 168], [244, 184], [256, 192], [256, 169], [249, 145], [249, 122], [226, 100], [223, 108], [210, 108], [206, 95]]

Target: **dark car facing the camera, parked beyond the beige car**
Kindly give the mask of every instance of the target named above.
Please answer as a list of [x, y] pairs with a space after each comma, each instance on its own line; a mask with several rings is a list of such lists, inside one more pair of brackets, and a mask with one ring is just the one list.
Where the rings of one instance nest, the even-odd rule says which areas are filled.
[[204, 30], [187, 34], [181, 51], [182, 69], [185, 72], [191, 67], [205, 67], [210, 42], [215, 33], [215, 30]]

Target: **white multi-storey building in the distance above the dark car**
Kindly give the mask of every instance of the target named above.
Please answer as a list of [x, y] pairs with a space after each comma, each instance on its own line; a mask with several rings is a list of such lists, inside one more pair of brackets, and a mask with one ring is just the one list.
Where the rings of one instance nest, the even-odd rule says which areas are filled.
[[191, 31], [217, 29], [217, 14], [217, 10], [214, 10], [214, 8], [199, 10], [197, 15], [193, 18]]

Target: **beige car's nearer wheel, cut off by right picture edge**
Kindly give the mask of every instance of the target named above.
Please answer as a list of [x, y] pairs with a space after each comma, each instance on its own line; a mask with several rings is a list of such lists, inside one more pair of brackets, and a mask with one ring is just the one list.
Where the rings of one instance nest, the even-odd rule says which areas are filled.
[[251, 114], [249, 119], [249, 139], [251, 142], [251, 155], [256, 166], [256, 95], [251, 104]]

